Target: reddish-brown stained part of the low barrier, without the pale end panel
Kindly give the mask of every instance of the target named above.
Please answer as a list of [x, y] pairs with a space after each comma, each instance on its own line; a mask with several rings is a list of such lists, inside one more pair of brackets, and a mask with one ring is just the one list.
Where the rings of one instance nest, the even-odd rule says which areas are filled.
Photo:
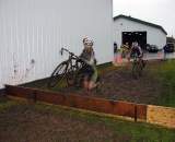
[[8, 95], [33, 99], [34, 102], [39, 100], [97, 113], [131, 117], [135, 118], [136, 121], [137, 119], [147, 120], [147, 105], [138, 105], [74, 94], [65, 95], [61, 93], [12, 85], [7, 85], [5, 90]]

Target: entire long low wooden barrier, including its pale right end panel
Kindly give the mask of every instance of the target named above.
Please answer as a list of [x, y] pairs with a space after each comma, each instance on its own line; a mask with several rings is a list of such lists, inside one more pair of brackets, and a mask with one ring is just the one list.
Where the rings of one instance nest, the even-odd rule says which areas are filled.
[[73, 108], [105, 113], [124, 117], [144, 120], [168, 128], [175, 128], [175, 108], [139, 105], [133, 103], [109, 100], [90, 96], [62, 94], [37, 88], [7, 85], [5, 92], [10, 96], [62, 105]]

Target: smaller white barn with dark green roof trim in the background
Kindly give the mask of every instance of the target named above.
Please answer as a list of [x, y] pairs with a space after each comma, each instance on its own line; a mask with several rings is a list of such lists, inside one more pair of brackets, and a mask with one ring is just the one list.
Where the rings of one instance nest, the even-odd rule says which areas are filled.
[[114, 42], [118, 47], [137, 40], [141, 46], [150, 44], [161, 49], [166, 44], [166, 35], [167, 33], [160, 25], [126, 15], [114, 17]]

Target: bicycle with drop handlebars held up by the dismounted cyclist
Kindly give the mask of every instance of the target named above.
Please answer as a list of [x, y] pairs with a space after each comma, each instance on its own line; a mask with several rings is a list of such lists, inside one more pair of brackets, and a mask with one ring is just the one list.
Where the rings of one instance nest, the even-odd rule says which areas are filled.
[[83, 73], [81, 70], [85, 66], [85, 62], [68, 49], [61, 48], [60, 54], [62, 55], [63, 51], [69, 54], [69, 58], [54, 70], [47, 83], [48, 87], [56, 86], [65, 79], [67, 85], [80, 85], [82, 82]]

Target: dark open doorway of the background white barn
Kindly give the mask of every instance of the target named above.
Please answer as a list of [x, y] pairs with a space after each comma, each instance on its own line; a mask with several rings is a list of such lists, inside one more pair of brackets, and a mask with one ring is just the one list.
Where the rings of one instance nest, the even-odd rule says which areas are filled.
[[138, 42], [142, 49], [147, 46], [147, 32], [122, 32], [122, 44], [128, 43], [129, 46], [133, 42]]

